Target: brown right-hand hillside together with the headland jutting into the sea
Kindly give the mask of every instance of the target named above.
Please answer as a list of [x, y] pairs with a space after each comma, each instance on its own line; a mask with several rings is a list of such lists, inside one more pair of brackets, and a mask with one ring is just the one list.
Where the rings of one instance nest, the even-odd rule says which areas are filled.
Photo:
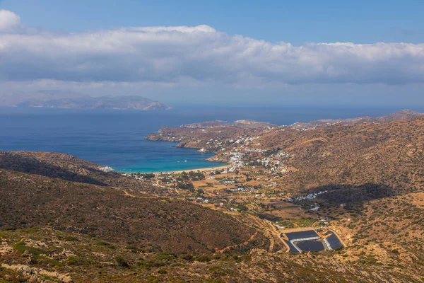
[[[246, 129], [234, 124], [208, 129], [165, 127], [146, 138], [204, 148], [217, 154], [213, 160], [229, 161], [237, 151], [244, 154], [241, 161], [245, 166], [256, 164], [258, 158], [277, 167], [284, 164], [293, 169], [278, 183], [284, 190], [365, 184], [385, 186], [388, 195], [420, 190], [424, 116], [397, 120], [400, 116], [395, 113], [389, 117], [396, 120], [336, 124], [307, 131], [266, 126]], [[281, 154], [287, 156], [282, 158]]]

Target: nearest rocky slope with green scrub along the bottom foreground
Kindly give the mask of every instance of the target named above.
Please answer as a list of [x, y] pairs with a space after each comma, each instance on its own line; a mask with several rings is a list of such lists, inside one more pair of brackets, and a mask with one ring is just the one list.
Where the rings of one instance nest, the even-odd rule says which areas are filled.
[[[148, 253], [132, 245], [105, 245], [96, 238], [52, 229], [4, 231], [0, 237], [0, 280], [11, 283], [28, 279], [122, 283], [421, 282], [423, 275], [417, 260], [409, 261], [408, 270], [400, 265], [408, 257], [403, 250], [389, 253], [387, 261], [376, 261], [375, 256], [351, 258], [354, 249], [295, 256], [254, 250], [244, 256], [191, 257]], [[39, 254], [31, 258], [31, 267], [27, 265], [28, 254], [23, 254], [25, 248]], [[361, 253], [364, 249], [358, 250]]]

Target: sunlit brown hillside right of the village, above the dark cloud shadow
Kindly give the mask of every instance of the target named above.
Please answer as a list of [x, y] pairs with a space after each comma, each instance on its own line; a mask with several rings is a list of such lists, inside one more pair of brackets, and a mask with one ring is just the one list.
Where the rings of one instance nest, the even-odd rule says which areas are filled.
[[285, 182], [300, 190], [363, 184], [389, 187], [394, 194], [424, 189], [424, 117], [309, 131], [276, 130], [258, 141], [290, 154], [287, 162], [298, 171]]

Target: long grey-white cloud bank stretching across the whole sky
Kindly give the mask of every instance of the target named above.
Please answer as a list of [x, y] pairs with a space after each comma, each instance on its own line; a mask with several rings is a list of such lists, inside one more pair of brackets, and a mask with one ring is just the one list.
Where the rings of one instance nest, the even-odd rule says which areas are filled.
[[53, 33], [0, 10], [0, 81], [424, 83], [424, 44], [271, 43], [207, 25]]

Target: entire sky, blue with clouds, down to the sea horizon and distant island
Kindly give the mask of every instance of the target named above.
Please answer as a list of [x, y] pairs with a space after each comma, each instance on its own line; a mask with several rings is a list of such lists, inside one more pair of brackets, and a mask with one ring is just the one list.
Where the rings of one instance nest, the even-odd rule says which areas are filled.
[[0, 0], [0, 96], [424, 107], [423, 13], [423, 0]]

